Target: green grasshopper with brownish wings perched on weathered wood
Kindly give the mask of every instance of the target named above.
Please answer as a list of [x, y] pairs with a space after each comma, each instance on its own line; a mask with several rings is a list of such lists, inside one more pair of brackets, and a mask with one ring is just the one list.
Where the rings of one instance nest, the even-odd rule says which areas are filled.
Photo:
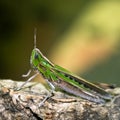
[[20, 89], [38, 74], [41, 74], [52, 92], [55, 87], [59, 87], [72, 95], [95, 103], [105, 103], [105, 101], [111, 99], [111, 95], [102, 88], [49, 61], [36, 48], [36, 32], [34, 34], [34, 49], [32, 50], [30, 64], [37, 73], [29, 78]]

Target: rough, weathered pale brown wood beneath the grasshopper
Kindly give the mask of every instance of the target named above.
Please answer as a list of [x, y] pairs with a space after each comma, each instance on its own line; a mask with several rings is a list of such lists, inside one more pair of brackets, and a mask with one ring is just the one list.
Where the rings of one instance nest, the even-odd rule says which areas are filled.
[[[95, 104], [61, 92], [40, 103], [49, 92], [40, 83], [0, 81], [0, 120], [120, 120], [120, 96], [104, 105]], [[116, 94], [120, 89], [114, 90]]]

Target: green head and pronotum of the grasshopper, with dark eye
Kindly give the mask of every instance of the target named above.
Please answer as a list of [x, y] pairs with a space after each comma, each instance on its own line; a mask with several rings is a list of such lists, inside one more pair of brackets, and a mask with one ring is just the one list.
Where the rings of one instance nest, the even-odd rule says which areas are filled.
[[34, 69], [52, 67], [53, 63], [51, 63], [38, 48], [34, 48], [32, 50], [30, 64]]

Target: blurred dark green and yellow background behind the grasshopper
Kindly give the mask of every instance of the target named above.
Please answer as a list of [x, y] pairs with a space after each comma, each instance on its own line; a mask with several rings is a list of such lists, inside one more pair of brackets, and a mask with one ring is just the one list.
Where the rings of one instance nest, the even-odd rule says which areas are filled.
[[37, 47], [93, 82], [120, 85], [119, 0], [0, 1], [0, 78], [23, 80]]

